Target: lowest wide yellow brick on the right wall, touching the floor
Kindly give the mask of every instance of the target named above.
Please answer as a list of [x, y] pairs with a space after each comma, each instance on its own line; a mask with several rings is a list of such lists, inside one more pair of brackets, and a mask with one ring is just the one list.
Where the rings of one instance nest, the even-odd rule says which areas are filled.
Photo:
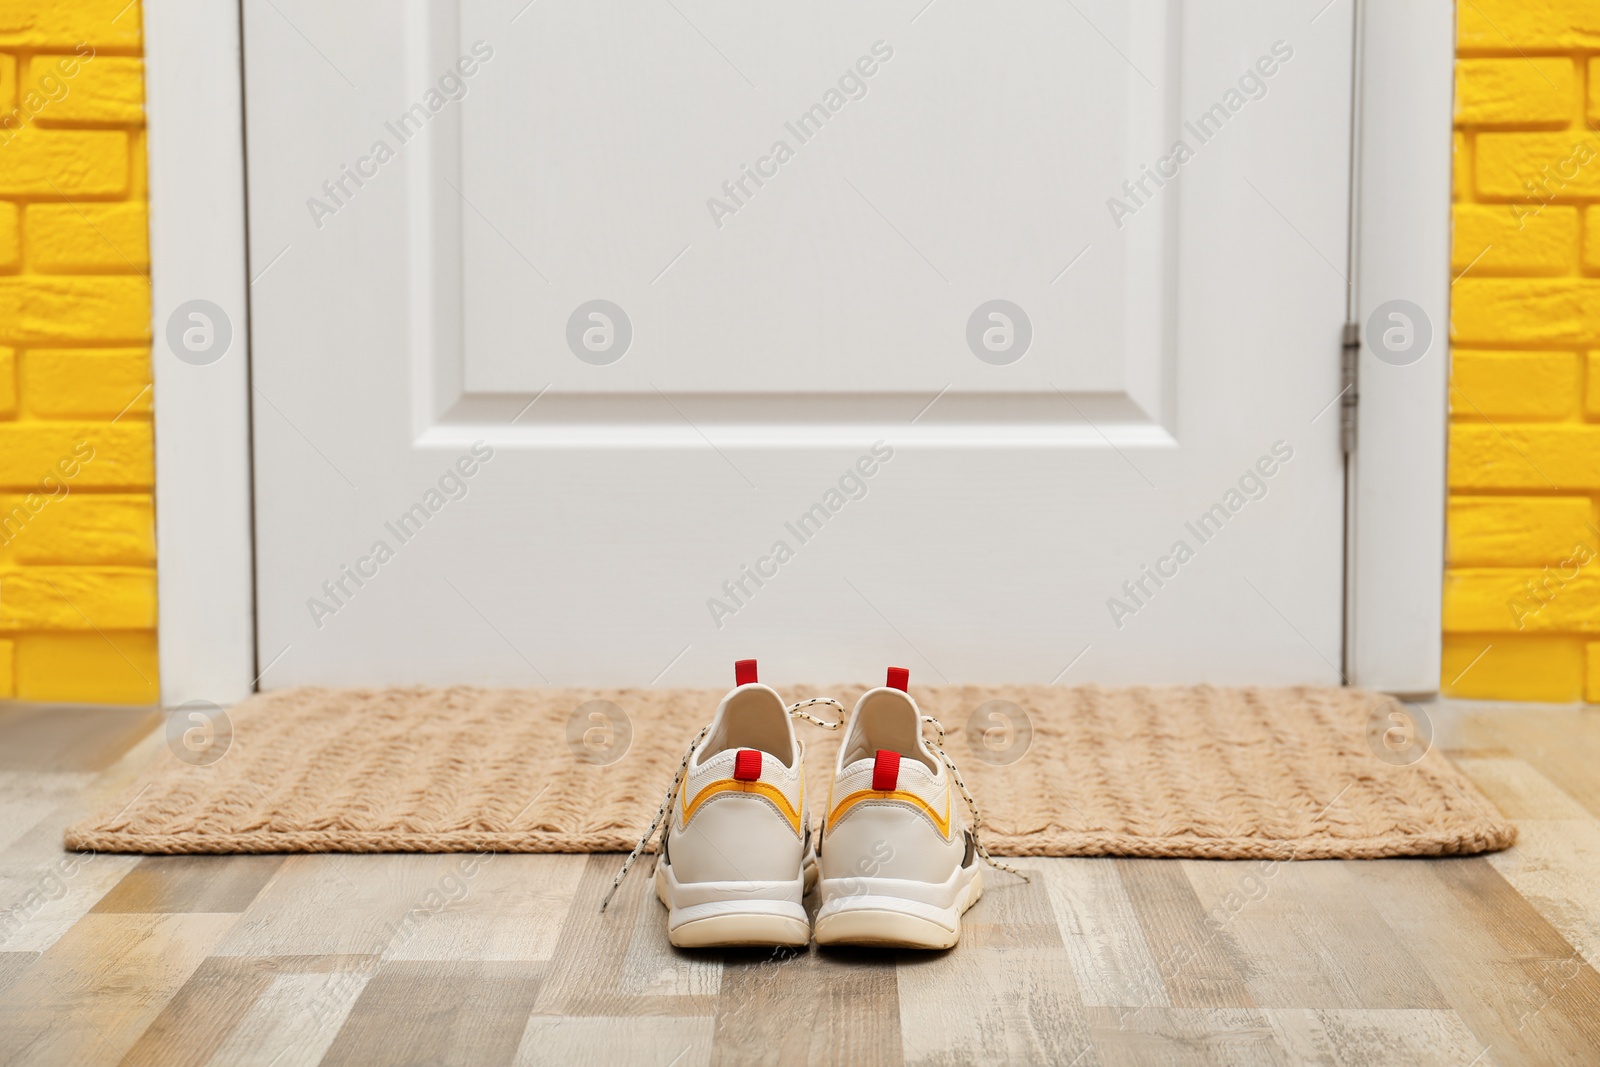
[[1550, 704], [1568, 704], [1582, 697], [1581, 638], [1446, 633], [1443, 651], [1440, 689], [1445, 696]]

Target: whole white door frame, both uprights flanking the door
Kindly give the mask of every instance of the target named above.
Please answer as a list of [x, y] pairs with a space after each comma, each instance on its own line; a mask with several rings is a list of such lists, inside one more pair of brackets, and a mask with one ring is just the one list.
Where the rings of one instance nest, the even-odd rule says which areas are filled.
[[[1330, 0], [1314, 18], [1344, 3], [1355, 5], [1347, 317], [1365, 323], [1386, 301], [1408, 299], [1434, 334], [1408, 366], [1378, 360], [1362, 338], [1347, 387], [1358, 405], [1346, 464], [1344, 675], [1432, 693], [1445, 555], [1454, 5]], [[258, 656], [254, 622], [250, 285], [286, 251], [250, 250], [240, 27], [240, 5], [144, 5], [166, 707], [237, 702], [270, 667], [270, 653], [267, 662]], [[211, 301], [232, 323], [232, 346], [205, 366], [179, 360], [165, 336], [192, 299]], [[1326, 358], [1341, 355], [1341, 338], [1330, 338]], [[1322, 418], [1339, 410], [1336, 402]]]

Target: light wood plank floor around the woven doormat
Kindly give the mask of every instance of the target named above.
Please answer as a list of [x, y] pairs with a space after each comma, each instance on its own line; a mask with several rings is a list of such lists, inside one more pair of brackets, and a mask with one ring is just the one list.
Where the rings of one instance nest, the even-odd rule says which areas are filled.
[[1600, 1062], [1600, 709], [1434, 707], [1470, 859], [1027, 861], [944, 953], [675, 952], [616, 856], [66, 854], [150, 712], [0, 705], [0, 1064]]

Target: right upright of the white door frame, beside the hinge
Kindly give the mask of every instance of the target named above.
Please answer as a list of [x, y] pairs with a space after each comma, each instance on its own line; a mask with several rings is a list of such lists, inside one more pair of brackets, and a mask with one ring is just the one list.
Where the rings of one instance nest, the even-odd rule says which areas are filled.
[[[1443, 646], [1454, 67], [1456, 5], [1357, 5], [1347, 318], [1363, 336], [1346, 462], [1344, 672], [1390, 693], [1437, 693]], [[1432, 323], [1432, 350], [1406, 366], [1379, 360], [1365, 336], [1390, 299]]]

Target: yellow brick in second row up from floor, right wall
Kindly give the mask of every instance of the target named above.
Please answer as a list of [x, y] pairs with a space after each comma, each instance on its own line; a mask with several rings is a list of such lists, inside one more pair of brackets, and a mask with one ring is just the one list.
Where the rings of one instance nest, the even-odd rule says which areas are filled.
[[1542, 568], [1445, 571], [1446, 633], [1600, 632], [1595, 539]]

